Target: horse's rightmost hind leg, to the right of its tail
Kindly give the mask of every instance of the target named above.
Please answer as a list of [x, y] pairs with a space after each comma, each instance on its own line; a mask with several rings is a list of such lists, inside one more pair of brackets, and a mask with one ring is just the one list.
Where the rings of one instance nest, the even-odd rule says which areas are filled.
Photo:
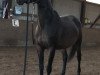
[[78, 40], [78, 49], [77, 49], [77, 60], [78, 60], [78, 70], [77, 70], [77, 75], [80, 75], [81, 73], [81, 43], [82, 43], [82, 38]]

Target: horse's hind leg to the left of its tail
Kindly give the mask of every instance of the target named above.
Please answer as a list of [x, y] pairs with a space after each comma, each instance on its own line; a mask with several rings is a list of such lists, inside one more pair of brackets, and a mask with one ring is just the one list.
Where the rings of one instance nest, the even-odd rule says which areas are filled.
[[66, 63], [67, 63], [67, 51], [66, 49], [62, 50], [62, 55], [63, 55], [63, 69], [61, 75], [65, 75], [66, 72]]

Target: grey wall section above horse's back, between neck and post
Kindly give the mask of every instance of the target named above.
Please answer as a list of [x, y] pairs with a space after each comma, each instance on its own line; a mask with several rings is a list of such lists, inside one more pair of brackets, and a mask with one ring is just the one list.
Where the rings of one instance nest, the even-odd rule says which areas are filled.
[[54, 9], [59, 15], [74, 15], [80, 17], [81, 3], [75, 0], [54, 0]]

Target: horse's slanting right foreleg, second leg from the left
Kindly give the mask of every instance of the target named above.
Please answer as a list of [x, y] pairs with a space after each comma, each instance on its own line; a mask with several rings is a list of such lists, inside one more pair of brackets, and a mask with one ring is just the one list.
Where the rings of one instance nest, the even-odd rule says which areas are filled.
[[51, 48], [50, 49], [50, 55], [49, 55], [49, 60], [48, 60], [48, 65], [47, 65], [47, 75], [51, 74], [52, 71], [52, 62], [55, 56], [55, 49]]

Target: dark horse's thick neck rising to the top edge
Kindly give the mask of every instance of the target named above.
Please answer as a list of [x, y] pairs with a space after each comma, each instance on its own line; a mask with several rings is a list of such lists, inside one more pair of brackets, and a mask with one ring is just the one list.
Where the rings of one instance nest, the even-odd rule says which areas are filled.
[[53, 17], [53, 8], [49, 2], [49, 0], [46, 0], [38, 4], [38, 15], [39, 15], [39, 21], [40, 25], [43, 27], [46, 23], [49, 23], [50, 20]]

